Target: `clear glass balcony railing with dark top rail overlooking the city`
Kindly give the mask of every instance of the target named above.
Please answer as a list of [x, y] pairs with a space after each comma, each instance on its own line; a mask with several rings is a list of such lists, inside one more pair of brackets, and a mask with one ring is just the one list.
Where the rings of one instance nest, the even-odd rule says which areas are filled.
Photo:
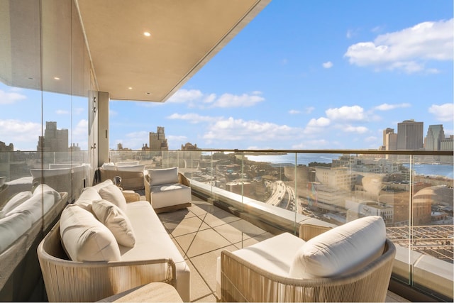
[[199, 194], [270, 231], [382, 216], [393, 278], [453, 297], [453, 152], [166, 150], [111, 152], [146, 169], [179, 167]]

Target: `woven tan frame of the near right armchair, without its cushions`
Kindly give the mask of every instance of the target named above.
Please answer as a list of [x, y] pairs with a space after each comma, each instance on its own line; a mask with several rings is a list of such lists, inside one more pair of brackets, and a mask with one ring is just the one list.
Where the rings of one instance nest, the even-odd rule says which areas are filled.
[[[301, 225], [301, 238], [329, 228]], [[306, 238], [305, 240], [309, 240]], [[295, 279], [275, 275], [234, 253], [221, 252], [222, 302], [384, 302], [396, 253], [386, 240], [383, 254], [346, 275]]]

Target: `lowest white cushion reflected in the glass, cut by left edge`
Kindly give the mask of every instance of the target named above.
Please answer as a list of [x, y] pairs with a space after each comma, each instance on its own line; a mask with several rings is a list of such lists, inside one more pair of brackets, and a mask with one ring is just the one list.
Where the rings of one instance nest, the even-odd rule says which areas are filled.
[[30, 211], [22, 211], [0, 219], [0, 253], [28, 231], [31, 225]]

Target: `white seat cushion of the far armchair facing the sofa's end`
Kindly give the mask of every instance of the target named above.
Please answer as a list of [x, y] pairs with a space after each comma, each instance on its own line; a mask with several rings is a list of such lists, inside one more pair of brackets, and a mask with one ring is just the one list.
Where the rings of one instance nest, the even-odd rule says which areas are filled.
[[179, 183], [151, 186], [150, 200], [154, 209], [189, 203], [192, 201], [191, 187]]

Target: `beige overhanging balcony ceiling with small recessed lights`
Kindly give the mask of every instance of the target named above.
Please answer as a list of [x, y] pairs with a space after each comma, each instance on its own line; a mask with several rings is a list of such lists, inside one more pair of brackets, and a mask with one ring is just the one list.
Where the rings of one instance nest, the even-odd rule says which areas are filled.
[[111, 99], [159, 102], [182, 87], [270, 2], [75, 1], [99, 90], [109, 92]]

